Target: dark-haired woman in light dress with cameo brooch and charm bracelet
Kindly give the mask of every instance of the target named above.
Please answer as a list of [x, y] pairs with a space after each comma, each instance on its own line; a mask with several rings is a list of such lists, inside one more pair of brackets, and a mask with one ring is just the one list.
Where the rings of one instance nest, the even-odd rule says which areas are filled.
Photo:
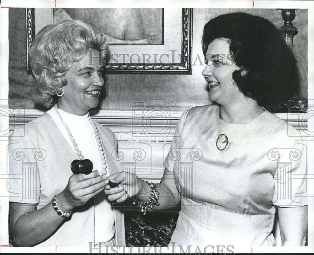
[[160, 184], [114, 174], [109, 178], [127, 194], [113, 188], [108, 198], [122, 202], [136, 195], [143, 211], [181, 201], [175, 246], [276, 246], [276, 209], [282, 245], [304, 245], [306, 146], [263, 108], [295, 92], [294, 56], [271, 22], [245, 13], [210, 20], [202, 46], [202, 75], [215, 104], [183, 113]]

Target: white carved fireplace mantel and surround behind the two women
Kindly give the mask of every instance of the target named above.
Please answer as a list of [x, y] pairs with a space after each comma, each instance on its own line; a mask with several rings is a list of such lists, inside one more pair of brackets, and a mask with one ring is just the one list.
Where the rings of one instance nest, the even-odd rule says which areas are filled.
[[[39, 110], [12, 109], [9, 118], [11, 135], [14, 135], [14, 128], [34, 120], [43, 113]], [[141, 114], [135, 116], [132, 111], [99, 111], [91, 115], [95, 121], [109, 127], [115, 133], [119, 157], [123, 156], [121, 170], [134, 172], [145, 180], [160, 181], [164, 172], [163, 162], [170, 150], [181, 112], [171, 115], [170, 118], [160, 117], [158, 111], [150, 112], [149, 116], [159, 116], [151, 121], [145, 120]], [[303, 113], [275, 115], [306, 133], [307, 115]], [[145, 123], [151, 125], [143, 127]], [[154, 133], [154, 130], [161, 130], [163, 133]], [[289, 129], [287, 132], [289, 135]], [[135, 157], [139, 152], [141, 157]]]

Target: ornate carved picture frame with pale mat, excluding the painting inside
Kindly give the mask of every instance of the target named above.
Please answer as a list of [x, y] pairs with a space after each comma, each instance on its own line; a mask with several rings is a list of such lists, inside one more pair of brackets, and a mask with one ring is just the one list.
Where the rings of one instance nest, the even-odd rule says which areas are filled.
[[[162, 45], [109, 45], [107, 74], [192, 74], [192, 8], [164, 8]], [[53, 23], [53, 8], [26, 8], [27, 73], [31, 74], [28, 49], [35, 34]]]

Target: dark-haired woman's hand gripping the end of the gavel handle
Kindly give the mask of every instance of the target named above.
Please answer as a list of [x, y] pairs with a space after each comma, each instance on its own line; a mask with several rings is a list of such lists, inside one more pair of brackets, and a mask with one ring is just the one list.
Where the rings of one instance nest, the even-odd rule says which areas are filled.
[[143, 181], [134, 173], [119, 172], [107, 177], [113, 183], [118, 184], [117, 187], [111, 188], [109, 185], [105, 187], [105, 194], [108, 195], [109, 201], [117, 203], [124, 202], [128, 197], [136, 196], [140, 190]]

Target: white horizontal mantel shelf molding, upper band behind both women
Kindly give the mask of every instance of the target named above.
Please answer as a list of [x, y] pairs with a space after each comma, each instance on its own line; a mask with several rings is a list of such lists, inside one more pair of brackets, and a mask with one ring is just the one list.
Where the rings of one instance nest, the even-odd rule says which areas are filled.
[[[9, 120], [10, 126], [24, 125], [41, 114], [44, 111], [29, 109], [11, 109]], [[96, 114], [90, 112], [93, 120], [101, 125], [108, 126], [117, 135], [120, 141], [171, 141], [176, 130], [176, 125], [180, 120], [181, 112], [171, 113], [170, 117], [160, 116], [160, 112], [151, 111], [149, 116], [151, 120], [149, 126], [147, 119], [143, 115], [135, 116], [132, 111], [98, 111]], [[275, 113], [277, 117], [286, 121], [296, 129], [307, 129], [307, 113]], [[158, 116], [158, 117], [154, 117]], [[145, 125], [143, 127], [143, 124]], [[156, 130], [156, 132], [154, 132]], [[157, 133], [159, 131], [159, 133]], [[118, 135], [119, 134], [119, 135]]]

